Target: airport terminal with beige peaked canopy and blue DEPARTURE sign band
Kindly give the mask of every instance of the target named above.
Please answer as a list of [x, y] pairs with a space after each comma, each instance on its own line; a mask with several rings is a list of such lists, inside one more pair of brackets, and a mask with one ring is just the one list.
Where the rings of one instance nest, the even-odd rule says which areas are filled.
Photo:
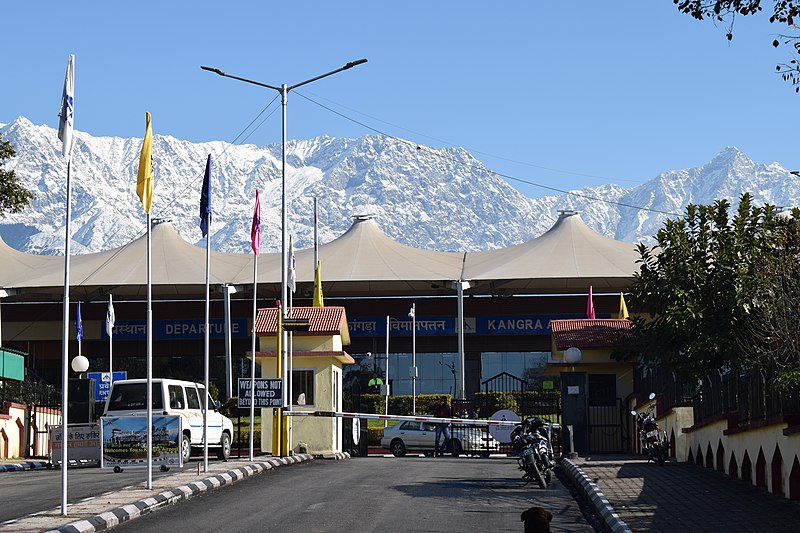
[[[205, 254], [168, 222], [152, 239], [153, 373], [197, 381], [204, 366]], [[310, 306], [314, 250], [296, 252], [295, 306]], [[146, 242], [73, 256], [70, 275], [70, 358], [78, 354], [75, 305], [81, 301], [81, 352], [90, 372], [146, 372]], [[249, 375], [253, 311], [250, 254], [211, 252], [211, 378], [228, 391]], [[596, 317], [617, 318], [619, 295], [638, 270], [636, 245], [590, 230], [573, 211], [545, 234], [482, 252], [435, 252], [400, 244], [375, 220], [355, 217], [351, 228], [319, 247], [326, 305], [346, 309], [354, 369], [384, 376], [393, 395], [471, 397], [507, 374], [528, 389], [548, 380], [550, 321], [586, 318], [589, 287]], [[281, 254], [261, 254], [257, 305], [280, 297]], [[26, 371], [60, 386], [64, 258], [21, 253], [0, 240], [0, 345], [25, 352]], [[113, 296], [115, 326], [105, 321]], [[413, 317], [410, 316], [412, 308]], [[457, 325], [463, 323], [463, 335]], [[113, 360], [110, 361], [109, 353]], [[548, 384], [547, 386], [551, 386]]]

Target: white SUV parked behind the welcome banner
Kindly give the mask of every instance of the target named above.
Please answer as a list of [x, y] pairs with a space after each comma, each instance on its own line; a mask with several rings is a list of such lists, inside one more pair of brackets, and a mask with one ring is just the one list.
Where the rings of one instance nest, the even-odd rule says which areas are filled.
[[[178, 415], [182, 420], [181, 459], [189, 460], [192, 448], [203, 446], [203, 395], [201, 383], [177, 379], [153, 379], [153, 414]], [[208, 445], [227, 461], [231, 454], [233, 422], [218, 412], [220, 403], [208, 397]], [[106, 400], [104, 416], [147, 416], [147, 380], [115, 381]]]

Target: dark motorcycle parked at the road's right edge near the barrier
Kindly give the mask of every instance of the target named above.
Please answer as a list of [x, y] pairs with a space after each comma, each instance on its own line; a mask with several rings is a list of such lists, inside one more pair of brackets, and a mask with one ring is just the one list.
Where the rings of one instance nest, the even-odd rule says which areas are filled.
[[526, 418], [511, 432], [511, 445], [517, 454], [517, 464], [524, 473], [522, 479], [528, 484], [536, 481], [539, 488], [547, 487], [553, 478], [552, 431], [557, 424], [547, 423], [541, 418]]

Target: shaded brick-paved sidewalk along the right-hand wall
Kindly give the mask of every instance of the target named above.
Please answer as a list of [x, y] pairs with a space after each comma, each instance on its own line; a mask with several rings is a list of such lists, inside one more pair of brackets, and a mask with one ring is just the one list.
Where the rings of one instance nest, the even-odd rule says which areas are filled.
[[[614, 531], [673, 533], [797, 531], [800, 502], [769, 494], [744, 481], [695, 465], [663, 467], [631, 456], [595, 456], [572, 463], [596, 485], [598, 514], [611, 517]], [[612, 517], [614, 515], [616, 519]], [[611, 528], [609, 528], [611, 529]]]

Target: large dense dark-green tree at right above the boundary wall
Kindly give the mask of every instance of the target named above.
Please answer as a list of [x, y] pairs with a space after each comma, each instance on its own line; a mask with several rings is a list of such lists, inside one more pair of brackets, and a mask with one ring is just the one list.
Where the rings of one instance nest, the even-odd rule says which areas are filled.
[[[685, 377], [778, 360], [784, 371], [796, 367], [800, 303], [785, 296], [800, 279], [798, 224], [749, 194], [730, 220], [729, 209], [727, 200], [690, 204], [658, 231], [657, 246], [639, 245], [632, 292], [653, 316], [634, 320], [644, 361]], [[778, 313], [785, 325], [772, 322]]]

